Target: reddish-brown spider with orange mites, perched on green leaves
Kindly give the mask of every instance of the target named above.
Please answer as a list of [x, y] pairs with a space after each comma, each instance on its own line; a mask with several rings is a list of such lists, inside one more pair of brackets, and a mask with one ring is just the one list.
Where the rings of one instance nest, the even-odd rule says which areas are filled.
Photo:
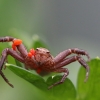
[[[13, 37], [0, 37], [0, 42], [12, 42], [12, 48], [4, 49], [2, 51], [0, 60], [0, 74], [11, 87], [13, 87], [13, 85], [9, 83], [8, 79], [2, 72], [3, 65], [8, 55], [11, 55], [13, 58], [22, 62], [27, 70], [35, 70], [41, 76], [46, 75], [50, 72], [64, 73], [61, 80], [49, 86], [49, 89], [65, 81], [69, 74], [69, 71], [67, 68], [63, 67], [75, 61], [78, 61], [86, 69], [86, 78], [84, 81], [88, 79], [89, 66], [81, 57], [81, 55], [86, 55], [88, 60], [90, 59], [90, 57], [89, 54], [84, 50], [72, 48], [64, 50], [56, 57], [53, 57], [48, 49], [42, 47], [30, 49], [30, 51], [28, 52], [25, 46], [22, 44], [22, 40]], [[71, 54], [76, 55], [68, 57]]]

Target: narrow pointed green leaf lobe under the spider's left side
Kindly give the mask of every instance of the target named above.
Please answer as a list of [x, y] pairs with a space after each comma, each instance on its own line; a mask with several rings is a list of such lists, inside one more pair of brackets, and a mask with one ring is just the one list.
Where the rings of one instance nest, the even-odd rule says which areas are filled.
[[12, 71], [14, 72], [16, 75], [20, 76], [21, 78], [25, 79], [26, 81], [28, 81], [29, 83], [33, 84], [34, 86], [36, 86], [37, 88], [41, 89], [41, 90], [47, 90], [47, 85], [44, 81], [43, 78], [39, 77], [38, 75], [33, 74], [32, 72], [12, 65], [12, 64], [6, 64], [6, 66]]

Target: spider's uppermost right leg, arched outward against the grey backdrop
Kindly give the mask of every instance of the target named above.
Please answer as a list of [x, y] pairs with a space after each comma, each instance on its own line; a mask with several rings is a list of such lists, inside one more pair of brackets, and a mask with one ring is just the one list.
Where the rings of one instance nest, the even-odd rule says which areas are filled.
[[78, 55], [86, 55], [88, 60], [90, 60], [89, 54], [86, 51], [80, 50], [78, 48], [73, 48], [73, 49], [68, 49], [68, 50], [65, 50], [65, 51], [59, 53], [54, 58], [54, 62], [57, 64], [57, 63], [61, 62], [64, 58], [66, 58], [67, 56], [69, 56], [72, 53], [78, 54]]

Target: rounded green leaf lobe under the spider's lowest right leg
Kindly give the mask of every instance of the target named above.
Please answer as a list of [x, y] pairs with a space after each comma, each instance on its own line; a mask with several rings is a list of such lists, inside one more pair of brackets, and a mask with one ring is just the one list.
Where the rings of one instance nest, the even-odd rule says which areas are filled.
[[[48, 86], [60, 81], [62, 76], [49, 77]], [[75, 100], [76, 90], [72, 82], [67, 78], [64, 83], [51, 88], [47, 95], [50, 100]]]

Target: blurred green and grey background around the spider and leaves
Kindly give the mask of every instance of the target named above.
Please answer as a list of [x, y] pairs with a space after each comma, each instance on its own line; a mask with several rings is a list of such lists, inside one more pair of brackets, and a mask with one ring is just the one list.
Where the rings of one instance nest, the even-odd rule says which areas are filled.
[[[43, 40], [55, 56], [69, 48], [81, 48], [91, 58], [100, 52], [100, 1], [80, 0], [0, 0], [0, 36], [23, 39], [31, 48], [34, 35]], [[35, 36], [36, 36], [35, 35]], [[0, 52], [8, 43], [0, 43]], [[9, 63], [14, 63], [10, 58]], [[76, 86], [78, 63], [68, 66], [69, 78]], [[4, 71], [15, 86], [9, 87], [0, 77], [0, 100], [41, 100], [42, 92], [25, 80]]]

